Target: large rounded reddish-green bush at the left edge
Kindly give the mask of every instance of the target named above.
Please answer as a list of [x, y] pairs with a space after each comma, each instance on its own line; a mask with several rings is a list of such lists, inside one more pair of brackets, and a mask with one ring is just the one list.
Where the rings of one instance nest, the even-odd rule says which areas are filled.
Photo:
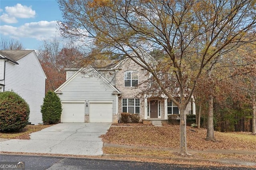
[[28, 103], [13, 91], [0, 92], [0, 131], [17, 132], [28, 124]]

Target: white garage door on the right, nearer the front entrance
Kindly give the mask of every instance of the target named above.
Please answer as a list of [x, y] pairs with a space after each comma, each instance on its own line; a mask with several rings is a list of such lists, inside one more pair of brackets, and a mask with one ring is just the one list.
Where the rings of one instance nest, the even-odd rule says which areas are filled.
[[90, 103], [90, 122], [112, 122], [112, 103]]

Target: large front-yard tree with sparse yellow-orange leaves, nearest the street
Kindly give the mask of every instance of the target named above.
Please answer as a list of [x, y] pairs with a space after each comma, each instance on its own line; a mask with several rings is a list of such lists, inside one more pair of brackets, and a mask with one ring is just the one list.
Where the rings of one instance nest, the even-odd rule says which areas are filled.
[[[253, 41], [256, 26], [251, 0], [58, 0], [63, 36], [88, 40], [100, 53], [129, 57], [152, 74], [180, 110], [180, 154], [186, 155], [186, 105], [203, 69], [240, 42]], [[165, 88], [161, 70], [147, 51], [164, 50], [158, 60], [178, 83]], [[162, 71], [163, 72], [163, 71]]]

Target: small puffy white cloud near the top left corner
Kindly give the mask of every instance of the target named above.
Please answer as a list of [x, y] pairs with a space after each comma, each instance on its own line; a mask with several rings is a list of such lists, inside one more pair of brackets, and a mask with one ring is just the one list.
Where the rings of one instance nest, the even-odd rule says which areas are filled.
[[32, 6], [16, 4], [15, 6], [6, 6], [5, 13], [0, 16], [0, 20], [6, 23], [16, 23], [18, 22], [16, 18], [34, 18], [35, 16], [36, 11], [32, 10]]

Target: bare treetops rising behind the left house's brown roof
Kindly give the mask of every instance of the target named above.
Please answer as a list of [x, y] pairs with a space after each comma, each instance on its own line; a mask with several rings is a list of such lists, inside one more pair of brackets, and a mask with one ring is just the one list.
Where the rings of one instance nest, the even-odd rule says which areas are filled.
[[20, 43], [18, 40], [1, 38], [0, 49], [1, 50], [7, 50], [7, 49], [20, 50], [20, 49], [24, 49], [24, 47], [22, 43]]

